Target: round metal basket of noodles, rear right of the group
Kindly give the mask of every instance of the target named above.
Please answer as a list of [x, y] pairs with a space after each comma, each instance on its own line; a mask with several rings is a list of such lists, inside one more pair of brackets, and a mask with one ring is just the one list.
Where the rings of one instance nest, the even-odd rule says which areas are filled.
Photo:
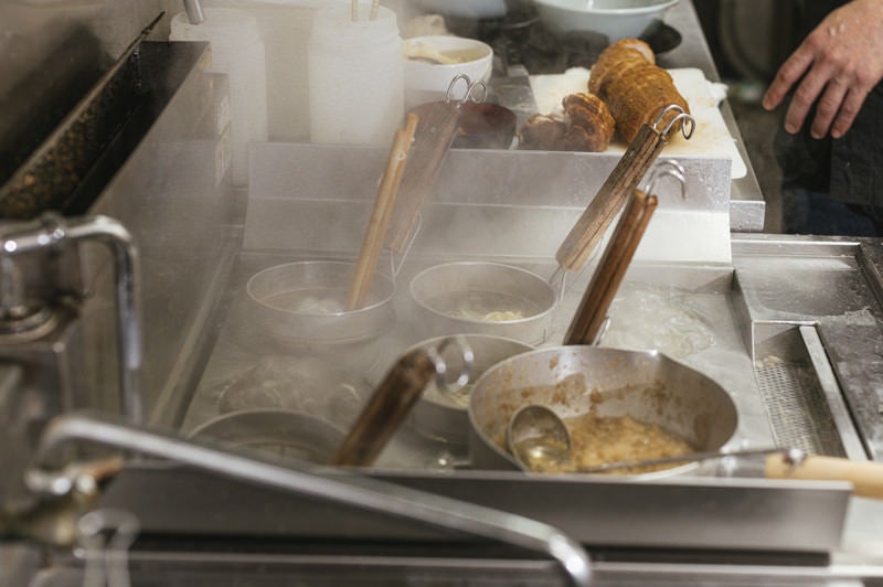
[[430, 335], [492, 334], [533, 345], [547, 338], [557, 303], [536, 274], [482, 262], [429, 267], [411, 281], [411, 296]]

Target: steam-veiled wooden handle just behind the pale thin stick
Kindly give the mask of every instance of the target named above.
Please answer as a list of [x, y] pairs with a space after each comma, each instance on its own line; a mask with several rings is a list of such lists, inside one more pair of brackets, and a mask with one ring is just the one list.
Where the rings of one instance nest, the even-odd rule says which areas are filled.
[[437, 103], [414, 136], [411, 163], [405, 169], [398, 201], [393, 207], [385, 245], [396, 253], [404, 253], [408, 237], [417, 222], [426, 195], [435, 185], [442, 163], [445, 161], [460, 125], [460, 111], [453, 104]]

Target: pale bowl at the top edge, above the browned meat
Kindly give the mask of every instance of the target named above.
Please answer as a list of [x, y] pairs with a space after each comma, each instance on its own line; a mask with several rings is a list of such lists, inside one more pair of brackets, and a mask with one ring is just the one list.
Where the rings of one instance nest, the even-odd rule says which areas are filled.
[[610, 42], [640, 36], [678, 0], [534, 0], [545, 24], [558, 32], [595, 31]]

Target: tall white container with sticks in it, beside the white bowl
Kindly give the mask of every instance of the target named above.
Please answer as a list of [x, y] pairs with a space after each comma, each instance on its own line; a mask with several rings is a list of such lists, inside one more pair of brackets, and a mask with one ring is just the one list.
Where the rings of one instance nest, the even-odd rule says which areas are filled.
[[389, 146], [404, 117], [402, 38], [395, 13], [360, 4], [316, 11], [309, 41], [310, 140]]

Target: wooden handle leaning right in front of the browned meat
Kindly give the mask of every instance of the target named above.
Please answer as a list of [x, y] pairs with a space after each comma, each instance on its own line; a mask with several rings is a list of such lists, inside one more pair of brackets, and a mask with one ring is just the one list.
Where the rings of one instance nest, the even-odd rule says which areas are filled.
[[572, 271], [578, 271], [583, 267], [617, 212], [626, 203], [629, 194], [638, 188], [638, 183], [664, 146], [662, 136], [652, 127], [648, 125], [641, 127], [638, 136], [631, 141], [628, 150], [555, 253], [555, 259], [561, 267]]

